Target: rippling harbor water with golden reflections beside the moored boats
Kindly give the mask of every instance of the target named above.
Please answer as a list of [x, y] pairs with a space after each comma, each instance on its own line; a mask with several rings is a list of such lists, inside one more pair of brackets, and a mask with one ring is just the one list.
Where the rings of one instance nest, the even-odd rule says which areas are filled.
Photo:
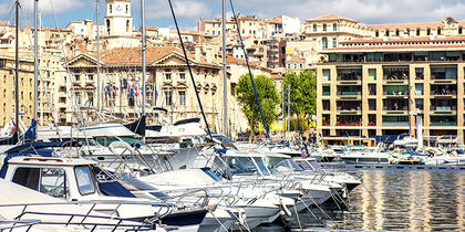
[[[465, 171], [359, 170], [347, 207], [323, 204], [257, 231], [465, 231]], [[331, 218], [331, 219], [329, 219]]]

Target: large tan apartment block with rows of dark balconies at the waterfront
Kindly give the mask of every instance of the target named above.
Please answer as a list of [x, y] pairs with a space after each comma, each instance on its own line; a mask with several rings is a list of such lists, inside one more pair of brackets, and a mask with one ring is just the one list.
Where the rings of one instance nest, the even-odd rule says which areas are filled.
[[[458, 31], [457, 31], [458, 32]], [[464, 141], [465, 36], [359, 39], [322, 51], [317, 66], [317, 129], [322, 136], [415, 131]]]

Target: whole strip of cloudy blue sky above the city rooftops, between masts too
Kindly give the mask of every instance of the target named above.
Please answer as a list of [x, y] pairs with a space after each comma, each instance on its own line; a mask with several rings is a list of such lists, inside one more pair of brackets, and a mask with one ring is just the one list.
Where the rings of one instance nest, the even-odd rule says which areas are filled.
[[[0, 0], [0, 20], [14, 21], [14, 1]], [[20, 0], [20, 24], [33, 25], [33, 1]], [[70, 21], [96, 19], [97, 0], [39, 0], [44, 27], [65, 28]], [[145, 0], [146, 25], [170, 27], [174, 22], [168, 0]], [[220, 0], [172, 0], [183, 29], [196, 29], [198, 19], [220, 17]], [[227, 13], [231, 15], [229, 0]], [[236, 12], [273, 18], [296, 17], [303, 22], [328, 13], [337, 13], [365, 24], [431, 22], [447, 17], [465, 20], [465, 0], [232, 0]], [[101, 22], [105, 15], [105, 0], [100, 0]], [[142, 24], [141, 0], [132, 2], [133, 24]], [[13, 23], [12, 23], [13, 24]]]

